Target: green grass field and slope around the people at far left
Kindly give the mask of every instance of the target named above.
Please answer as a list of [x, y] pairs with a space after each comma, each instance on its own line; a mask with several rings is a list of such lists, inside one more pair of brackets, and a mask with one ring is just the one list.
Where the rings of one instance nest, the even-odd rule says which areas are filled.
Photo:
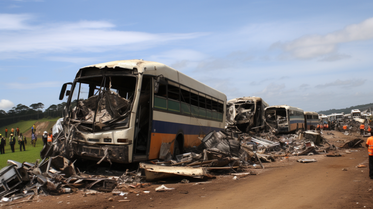
[[[36, 146], [33, 147], [31, 145], [31, 138], [27, 138], [27, 144], [25, 144], [26, 151], [22, 152], [19, 151], [19, 144], [18, 144], [18, 139], [16, 137], [16, 144], [14, 145], [14, 150], [15, 152], [12, 153], [9, 145], [9, 137], [10, 137], [10, 130], [13, 127], [16, 129], [19, 127], [19, 131], [22, 133], [28, 131], [31, 129], [31, 126], [36, 123], [36, 122], [51, 122], [53, 125], [58, 118], [55, 119], [41, 119], [38, 121], [20, 121], [14, 124], [10, 124], [6, 127], [8, 127], [8, 137], [6, 139], [6, 146], [5, 146], [5, 154], [0, 155], [0, 169], [7, 166], [7, 160], [15, 160], [17, 162], [31, 162], [34, 163], [36, 162], [36, 159], [40, 159], [40, 151], [43, 148], [43, 141], [41, 139], [41, 135], [38, 135], [37, 141], [36, 141]], [[37, 129], [37, 126], [36, 126]], [[5, 137], [5, 126], [0, 128], [0, 134]]]

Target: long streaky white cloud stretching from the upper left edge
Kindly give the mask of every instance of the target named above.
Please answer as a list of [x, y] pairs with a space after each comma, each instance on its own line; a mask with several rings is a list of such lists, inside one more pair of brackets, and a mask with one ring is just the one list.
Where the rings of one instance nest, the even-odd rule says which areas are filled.
[[[115, 30], [107, 21], [79, 21], [28, 25], [29, 15], [2, 14], [0, 17], [0, 53], [104, 52], [108, 50], [144, 50], [173, 40], [196, 38], [203, 33], [152, 34]], [[10, 21], [10, 22], [8, 22]], [[8, 57], [12, 57], [7, 55]]]

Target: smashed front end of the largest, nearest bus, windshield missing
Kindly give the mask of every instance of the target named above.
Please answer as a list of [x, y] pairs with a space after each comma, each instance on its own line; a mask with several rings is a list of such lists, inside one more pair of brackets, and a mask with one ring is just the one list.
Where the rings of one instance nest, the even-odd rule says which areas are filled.
[[132, 162], [138, 80], [136, 68], [89, 66], [78, 71], [66, 93], [66, 154], [99, 162]]

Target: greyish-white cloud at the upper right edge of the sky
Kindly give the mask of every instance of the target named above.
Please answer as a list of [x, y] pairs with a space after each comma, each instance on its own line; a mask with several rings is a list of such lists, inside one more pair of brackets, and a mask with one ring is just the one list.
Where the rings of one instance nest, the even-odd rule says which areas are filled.
[[373, 17], [326, 35], [305, 35], [287, 43], [274, 43], [272, 47], [280, 47], [296, 58], [309, 59], [336, 52], [341, 43], [369, 39], [373, 39]]

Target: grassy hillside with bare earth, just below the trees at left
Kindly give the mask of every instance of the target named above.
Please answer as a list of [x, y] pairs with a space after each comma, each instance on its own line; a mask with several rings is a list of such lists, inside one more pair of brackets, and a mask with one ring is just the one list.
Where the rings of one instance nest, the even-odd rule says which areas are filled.
[[58, 118], [52, 119], [40, 119], [40, 120], [30, 120], [30, 121], [20, 121], [10, 125], [0, 127], [0, 134], [5, 137], [5, 128], [8, 128], [8, 138], [10, 137], [10, 131], [12, 128], [16, 131], [16, 128], [19, 128], [19, 132], [23, 133], [26, 137], [31, 138], [31, 126], [35, 124], [36, 133], [41, 136], [44, 131], [48, 133], [51, 132], [51, 127], [56, 123]]

